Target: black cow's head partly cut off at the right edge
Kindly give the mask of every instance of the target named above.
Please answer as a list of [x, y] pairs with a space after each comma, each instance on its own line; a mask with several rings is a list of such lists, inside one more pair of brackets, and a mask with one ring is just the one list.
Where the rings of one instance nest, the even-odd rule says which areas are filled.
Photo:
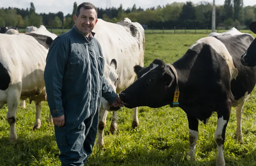
[[[251, 22], [249, 25], [250, 30], [256, 34], [256, 21]], [[241, 63], [245, 66], [256, 66], [256, 40], [254, 39], [248, 47], [244, 55], [241, 57]]]

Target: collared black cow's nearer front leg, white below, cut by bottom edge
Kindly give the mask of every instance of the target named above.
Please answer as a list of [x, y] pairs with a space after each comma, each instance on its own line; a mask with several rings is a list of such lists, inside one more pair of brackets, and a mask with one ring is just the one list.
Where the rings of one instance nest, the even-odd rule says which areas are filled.
[[214, 132], [214, 138], [218, 148], [216, 166], [225, 166], [225, 160], [223, 155], [223, 145], [225, 142], [226, 127], [230, 117], [231, 106], [232, 106], [231, 100], [226, 99], [226, 102], [220, 105], [220, 108], [218, 109], [217, 129]]

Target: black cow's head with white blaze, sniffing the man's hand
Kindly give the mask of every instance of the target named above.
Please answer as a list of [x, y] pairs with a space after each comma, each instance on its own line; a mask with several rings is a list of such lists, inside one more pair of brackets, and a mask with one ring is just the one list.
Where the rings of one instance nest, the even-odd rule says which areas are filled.
[[127, 108], [148, 106], [158, 108], [172, 102], [176, 82], [169, 66], [155, 59], [148, 67], [134, 66], [138, 79], [119, 94]]

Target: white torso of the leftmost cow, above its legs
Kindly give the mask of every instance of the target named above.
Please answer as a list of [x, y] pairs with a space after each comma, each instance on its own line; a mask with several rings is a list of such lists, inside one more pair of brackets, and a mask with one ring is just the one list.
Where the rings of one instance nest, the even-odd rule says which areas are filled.
[[29, 35], [0, 35], [0, 63], [10, 75], [10, 85], [22, 81], [22, 89], [42, 87], [38, 82], [44, 84], [43, 72], [48, 50]]

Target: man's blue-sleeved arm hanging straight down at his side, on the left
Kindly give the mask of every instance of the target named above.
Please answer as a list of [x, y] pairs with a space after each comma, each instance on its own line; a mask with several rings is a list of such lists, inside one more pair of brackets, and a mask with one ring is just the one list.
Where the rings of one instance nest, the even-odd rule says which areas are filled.
[[59, 43], [53, 43], [47, 54], [44, 69], [45, 89], [52, 117], [60, 117], [64, 115], [61, 90], [62, 78], [67, 61], [68, 53], [64, 46]]

